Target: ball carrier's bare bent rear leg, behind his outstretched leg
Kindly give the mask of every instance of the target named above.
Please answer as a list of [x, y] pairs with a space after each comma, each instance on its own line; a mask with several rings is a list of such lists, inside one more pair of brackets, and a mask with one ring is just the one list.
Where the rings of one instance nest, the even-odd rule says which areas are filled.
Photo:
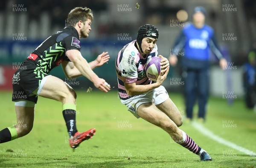
[[156, 107], [165, 113], [178, 127], [182, 125], [180, 112], [170, 98], [161, 104], [157, 104]]

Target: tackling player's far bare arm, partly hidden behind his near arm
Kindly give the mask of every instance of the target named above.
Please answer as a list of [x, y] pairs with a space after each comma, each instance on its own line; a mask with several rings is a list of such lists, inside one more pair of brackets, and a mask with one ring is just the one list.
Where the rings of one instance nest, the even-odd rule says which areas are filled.
[[[93, 70], [96, 67], [100, 67], [103, 64], [105, 64], [106, 62], [109, 61], [110, 56], [107, 55], [108, 52], [102, 52], [102, 54], [98, 55], [98, 57], [96, 58], [96, 60], [92, 61], [89, 63], [90, 68]], [[76, 68], [76, 66], [74, 65], [73, 62], [69, 62], [69, 61], [64, 61], [61, 64], [65, 75], [68, 78], [77, 78], [79, 76], [81, 76], [81, 72]]]

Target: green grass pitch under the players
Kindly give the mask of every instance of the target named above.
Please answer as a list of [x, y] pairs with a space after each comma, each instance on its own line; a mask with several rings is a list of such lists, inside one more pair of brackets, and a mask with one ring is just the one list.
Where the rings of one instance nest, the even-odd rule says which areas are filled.
[[[0, 129], [3, 129], [12, 126], [16, 116], [11, 92], [1, 92], [0, 95]], [[78, 130], [96, 128], [93, 139], [81, 143], [73, 152], [67, 143], [61, 103], [38, 98], [32, 132], [0, 144], [0, 167], [256, 167], [256, 157], [221, 145], [184, 123], [180, 129], [212, 156], [212, 162], [201, 162], [197, 155], [173, 142], [159, 127], [136, 119], [120, 103], [116, 91], [78, 91], [77, 95]], [[176, 93], [169, 95], [184, 114], [182, 96]], [[256, 152], [256, 113], [247, 110], [242, 100], [236, 99], [230, 106], [225, 100], [210, 98], [207, 109], [205, 127], [230, 142]], [[232, 124], [225, 126], [225, 122]]]

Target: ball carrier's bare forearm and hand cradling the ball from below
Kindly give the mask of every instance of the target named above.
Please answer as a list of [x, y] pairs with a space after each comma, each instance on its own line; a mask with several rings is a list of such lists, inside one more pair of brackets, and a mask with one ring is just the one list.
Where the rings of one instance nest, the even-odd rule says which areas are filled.
[[[163, 81], [166, 79], [167, 74], [169, 72], [169, 66], [166, 68], [166, 71], [162, 70], [160, 72], [160, 75], [157, 78], [157, 81], [153, 84], [147, 84], [147, 85], [137, 85], [134, 83], [125, 83], [125, 90], [129, 96], [134, 95], [140, 95], [143, 93], [146, 93], [152, 89], [155, 89], [157, 87], [160, 87], [161, 84], [163, 84]], [[123, 80], [125, 81], [125, 80]]]

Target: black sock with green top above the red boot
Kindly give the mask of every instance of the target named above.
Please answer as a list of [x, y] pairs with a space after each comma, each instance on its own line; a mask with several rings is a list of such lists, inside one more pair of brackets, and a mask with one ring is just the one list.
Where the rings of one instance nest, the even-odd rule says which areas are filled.
[[67, 125], [69, 137], [74, 136], [76, 130], [76, 104], [63, 104], [63, 117]]

